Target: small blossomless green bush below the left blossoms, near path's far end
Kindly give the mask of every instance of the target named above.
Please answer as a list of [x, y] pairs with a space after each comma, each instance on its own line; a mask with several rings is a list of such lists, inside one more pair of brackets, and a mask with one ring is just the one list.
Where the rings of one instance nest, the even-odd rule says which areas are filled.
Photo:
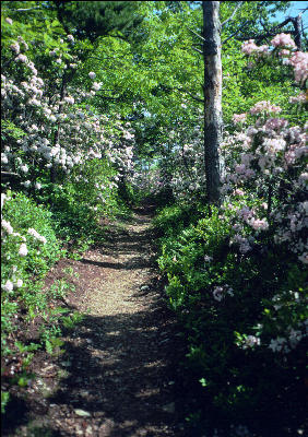
[[37, 201], [52, 212], [57, 236], [74, 248], [85, 250], [102, 240], [102, 217], [128, 215], [129, 209], [119, 197], [116, 169], [107, 160], [88, 160], [75, 166], [68, 177], [58, 175], [57, 184], [46, 178]]

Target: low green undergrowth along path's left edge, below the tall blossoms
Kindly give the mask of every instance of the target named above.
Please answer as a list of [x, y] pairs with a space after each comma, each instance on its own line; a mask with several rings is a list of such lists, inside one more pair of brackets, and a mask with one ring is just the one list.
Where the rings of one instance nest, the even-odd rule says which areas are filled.
[[[63, 329], [72, 329], [82, 318], [63, 305], [74, 291], [70, 274], [49, 287], [46, 274], [60, 258], [79, 259], [88, 247], [102, 244], [110, 221], [131, 215], [111, 186], [107, 164], [93, 161], [83, 172], [91, 184], [43, 182], [42, 191], [32, 194], [4, 187], [1, 194], [2, 413], [12, 389], [35, 378], [35, 354], [61, 355]], [[96, 189], [98, 182], [105, 184], [104, 190]]]

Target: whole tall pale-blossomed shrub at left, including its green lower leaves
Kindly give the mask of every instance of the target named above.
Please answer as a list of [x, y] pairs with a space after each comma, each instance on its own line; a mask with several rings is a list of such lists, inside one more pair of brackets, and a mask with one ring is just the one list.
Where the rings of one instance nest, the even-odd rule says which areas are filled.
[[81, 43], [51, 31], [36, 48], [19, 29], [5, 20], [1, 168], [20, 176], [14, 188], [51, 209], [58, 235], [76, 241], [85, 233], [90, 241], [92, 220], [125, 210], [117, 191], [133, 176], [133, 131], [119, 115], [96, 111], [94, 71], [83, 86], [73, 81]]

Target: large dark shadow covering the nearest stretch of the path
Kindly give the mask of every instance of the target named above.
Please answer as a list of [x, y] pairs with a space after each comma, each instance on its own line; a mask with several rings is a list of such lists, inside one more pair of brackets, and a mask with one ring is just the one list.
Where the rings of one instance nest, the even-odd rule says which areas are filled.
[[51, 404], [85, 410], [99, 435], [180, 435], [167, 359], [176, 352], [170, 328], [158, 303], [134, 315], [86, 316], [66, 344], [69, 374]]

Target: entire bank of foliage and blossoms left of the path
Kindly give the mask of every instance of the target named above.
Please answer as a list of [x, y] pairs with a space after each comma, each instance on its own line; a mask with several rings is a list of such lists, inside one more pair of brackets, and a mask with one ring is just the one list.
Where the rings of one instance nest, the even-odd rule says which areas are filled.
[[[34, 351], [59, 349], [68, 311], [60, 300], [72, 286], [60, 281], [46, 291], [39, 279], [60, 257], [76, 257], [76, 249], [100, 241], [100, 217], [129, 214], [122, 191], [133, 169], [129, 121], [95, 110], [100, 84], [93, 71], [75, 81], [90, 43], [66, 35], [48, 4], [38, 3], [7, 2], [1, 17], [1, 168], [9, 180], [1, 194], [5, 388], [27, 385]], [[34, 322], [38, 338], [17, 340]], [[2, 411], [8, 399], [2, 391]]]

